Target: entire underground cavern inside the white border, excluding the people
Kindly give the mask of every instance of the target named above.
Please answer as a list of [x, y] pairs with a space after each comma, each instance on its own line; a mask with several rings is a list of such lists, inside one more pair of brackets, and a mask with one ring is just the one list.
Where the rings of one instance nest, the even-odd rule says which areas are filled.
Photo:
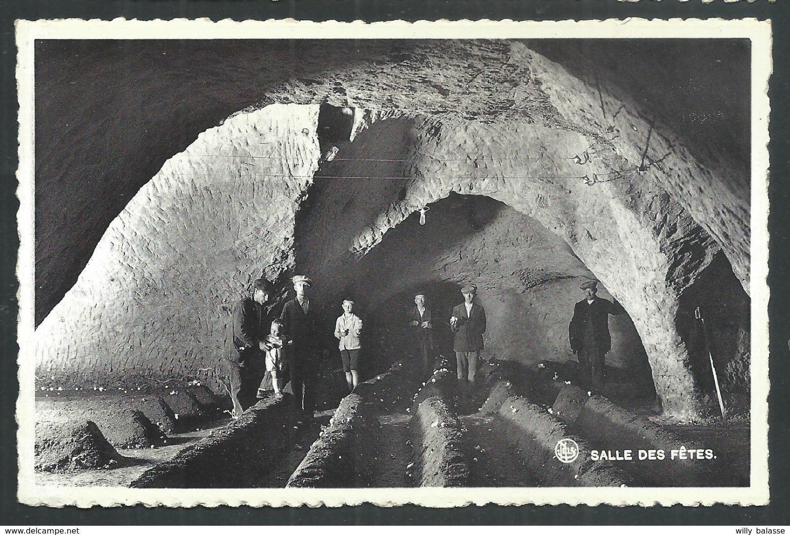
[[[648, 91], [605, 43], [213, 46], [39, 45], [36, 137], [52, 144], [36, 153], [40, 481], [749, 484], [747, 83], [717, 94], [700, 69], [675, 102], [660, 91], [672, 73], [651, 74]], [[663, 64], [672, 51], [660, 49], [630, 54]], [[162, 65], [138, 72], [161, 51]], [[235, 59], [185, 77], [214, 54]], [[305, 60], [288, 68], [293, 54]], [[714, 69], [719, 54], [746, 52], [727, 41], [694, 58]], [[73, 106], [82, 119], [53, 118], [73, 99], [69, 73], [88, 88]], [[107, 76], [117, 84], [100, 91]], [[727, 132], [679, 123], [705, 103], [698, 93], [732, 112]], [[101, 129], [123, 133], [99, 140]], [[320, 333], [316, 412], [295, 417], [292, 386], [277, 397], [265, 380], [231, 417], [235, 304], [263, 277], [278, 315], [299, 274]], [[569, 342], [589, 281], [622, 309], [595, 388]], [[487, 322], [464, 391], [450, 316], [472, 284]], [[406, 328], [418, 292], [433, 316], [425, 376]], [[351, 393], [333, 338], [344, 300], [364, 325]], [[591, 455], [681, 448], [717, 457]]]

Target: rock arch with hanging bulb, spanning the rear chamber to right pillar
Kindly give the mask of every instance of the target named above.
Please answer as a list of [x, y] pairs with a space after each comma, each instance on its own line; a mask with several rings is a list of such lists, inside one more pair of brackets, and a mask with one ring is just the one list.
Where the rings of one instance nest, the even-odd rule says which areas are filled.
[[[574, 130], [489, 125], [452, 115], [365, 115], [369, 131], [357, 133], [337, 159], [322, 166], [322, 176], [338, 179], [326, 179], [318, 206], [305, 216], [300, 268], [318, 279], [343, 280], [349, 265], [413, 211], [451, 192], [491, 196], [570, 245], [630, 312], [664, 410], [679, 417], [698, 413], [694, 373], [675, 316], [680, 293], [719, 249], [653, 174], [612, 173], [622, 163], [614, 148]], [[600, 145], [598, 159], [584, 162], [580, 155], [591, 145]], [[379, 154], [386, 163], [371, 162]], [[395, 154], [400, 157], [389, 157]], [[606, 178], [595, 182], [592, 176]], [[343, 177], [365, 178], [349, 184]], [[341, 206], [338, 196], [369, 202]]]

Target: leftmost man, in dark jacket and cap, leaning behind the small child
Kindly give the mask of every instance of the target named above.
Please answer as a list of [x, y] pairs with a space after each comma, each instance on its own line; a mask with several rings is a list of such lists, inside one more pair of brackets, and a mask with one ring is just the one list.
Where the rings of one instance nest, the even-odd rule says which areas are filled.
[[267, 279], [253, 282], [252, 297], [245, 297], [233, 308], [233, 346], [235, 358], [228, 359], [233, 414], [239, 416], [257, 400], [258, 385], [266, 372], [263, 347], [274, 316], [266, 304], [274, 294]]

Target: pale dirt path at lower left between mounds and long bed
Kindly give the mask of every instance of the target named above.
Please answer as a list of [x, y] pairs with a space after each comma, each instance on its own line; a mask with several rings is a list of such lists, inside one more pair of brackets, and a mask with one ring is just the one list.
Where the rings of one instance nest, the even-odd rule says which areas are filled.
[[69, 470], [66, 472], [36, 472], [37, 485], [74, 486], [74, 487], [128, 487], [141, 473], [156, 462], [167, 461], [179, 451], [205, 436], [214, 429], [221, 428], [231, 421], [230, 418], [216, 420], [199, 431], [173, 434], [167, 437], [160, 447], [137, 450], [122, 450], [122, 461], [113, 468], [100, 470]]

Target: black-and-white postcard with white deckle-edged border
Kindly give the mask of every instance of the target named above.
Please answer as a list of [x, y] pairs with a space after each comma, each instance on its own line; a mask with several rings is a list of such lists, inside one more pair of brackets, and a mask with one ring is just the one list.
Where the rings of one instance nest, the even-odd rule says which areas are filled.
[[769, 21], [17, 21], [19, 496], [765, 504]]

